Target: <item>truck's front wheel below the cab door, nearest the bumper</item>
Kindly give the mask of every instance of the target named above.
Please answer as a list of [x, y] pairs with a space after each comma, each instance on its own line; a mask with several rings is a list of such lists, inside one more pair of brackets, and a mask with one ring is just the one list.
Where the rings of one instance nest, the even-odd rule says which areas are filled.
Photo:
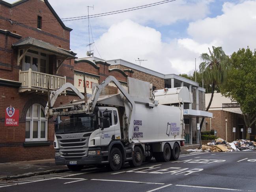
[[118, 171], [121, 169], [123, 158], [120, 149], [113, 147], [109, 155], [109, 168], [112, 171]]

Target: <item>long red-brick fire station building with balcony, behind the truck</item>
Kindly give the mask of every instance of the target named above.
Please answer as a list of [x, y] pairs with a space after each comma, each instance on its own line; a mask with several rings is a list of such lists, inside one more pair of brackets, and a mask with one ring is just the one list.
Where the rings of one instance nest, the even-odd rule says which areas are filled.
[[[43, 23], [45, 18], [58, 22]], [[0, 163], [54, 157], [54, 122], [44, 115], [48, 87], [54, 90], [70, 82], [83, 92], [84, 74], [89, 95], [93, 83], [109, 75], [125, 88], [128, 76], [151, 82], [154, 89], [188, 86], [195, 95], [194, 103], [186, 106], [188, 142], [197, 142], [195, 123], [209, 116], [201, 109], [204, 89], [178, 75], [163, 75], [123, 60], [78, 59], [70, 50], [71, 30], [47, 0], [0, 1]], [[66, 90], [55, 106], [75, 99]]]

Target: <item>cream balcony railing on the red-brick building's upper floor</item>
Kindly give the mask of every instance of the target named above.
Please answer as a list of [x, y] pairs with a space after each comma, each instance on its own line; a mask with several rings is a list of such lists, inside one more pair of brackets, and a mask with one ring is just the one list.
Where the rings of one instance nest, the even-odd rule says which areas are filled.
[[[24, 91], [47, 91], [48, 90], [48, 82], [49, 89], [55, 90], [60, 88], [66, 82], [66, 76], [56, 76], [50, 75], [46, 73], [40, 73], [37, 71], [32, 71], [28, 69], [28, 71], [19, 71], [19, 81], [21, 82], [21, 87], [19, 88], [19, 92]], [[65, 92], [64, 92], [65, 93]]]

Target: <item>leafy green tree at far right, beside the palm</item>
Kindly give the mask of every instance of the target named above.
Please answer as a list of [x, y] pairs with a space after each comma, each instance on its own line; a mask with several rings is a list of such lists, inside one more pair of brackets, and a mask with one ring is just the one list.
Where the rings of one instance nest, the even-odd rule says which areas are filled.
[[246, 127], [256, 122], [256, 51], [249, 47], [234, 52], [228, 80], [221, 93], [240, 104]]

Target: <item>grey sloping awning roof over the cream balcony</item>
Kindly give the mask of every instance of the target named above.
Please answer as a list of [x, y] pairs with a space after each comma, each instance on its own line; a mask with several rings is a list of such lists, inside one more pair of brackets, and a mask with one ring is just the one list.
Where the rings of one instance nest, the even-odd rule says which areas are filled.
[[58, 56], [62, 56], [65, 59], [75, 59], [76, 53], [69, 51], [69, 50], [64, 50], [59, 47], [55, 47], [54, 45], [35, 39], [33, 37], [26, 37], [22, 39], [21, 41], [14, 43], [13, 46], [14, 48], [30, 48], [30, 47], [35, 47], [38, 49], [46, 50], [50, 53], [55, 53]]

